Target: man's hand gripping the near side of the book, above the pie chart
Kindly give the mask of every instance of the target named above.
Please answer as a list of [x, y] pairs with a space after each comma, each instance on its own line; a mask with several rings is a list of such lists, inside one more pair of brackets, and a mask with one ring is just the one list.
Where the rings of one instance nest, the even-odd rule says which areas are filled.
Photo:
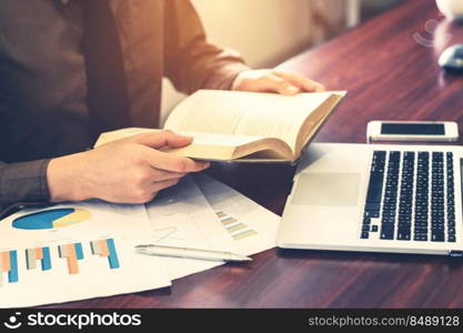
[[207, 169], [159, 151], [190, 144], [189, 137], [171, 131], [145, 133], [113, 141], [93, 150], [50, 161], [47, 170], [52, 202], [101, 199], [117, 203], [145, 203], [189, 172]]

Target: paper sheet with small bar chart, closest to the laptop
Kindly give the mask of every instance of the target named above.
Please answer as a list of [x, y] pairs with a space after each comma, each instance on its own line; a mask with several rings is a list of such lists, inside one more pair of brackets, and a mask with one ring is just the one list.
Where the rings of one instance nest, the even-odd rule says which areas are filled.
[[251, 255], [275, 246], [281, 218], [205, 174], [195, 181], [232, 240], [232, 252]]

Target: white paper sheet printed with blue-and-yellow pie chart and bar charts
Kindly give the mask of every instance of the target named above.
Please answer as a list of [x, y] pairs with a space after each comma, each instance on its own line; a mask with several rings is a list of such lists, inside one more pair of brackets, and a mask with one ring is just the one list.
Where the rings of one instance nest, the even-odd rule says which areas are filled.
[[0, 221], [0, 307], [170, 285], [159, 260], [134, 252], [148, 228], [143, 205], [99, 201], [24, 210]]

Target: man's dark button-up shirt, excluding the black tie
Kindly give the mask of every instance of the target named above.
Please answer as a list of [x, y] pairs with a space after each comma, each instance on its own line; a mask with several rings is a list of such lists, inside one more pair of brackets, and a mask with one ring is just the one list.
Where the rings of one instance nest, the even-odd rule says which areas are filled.
[[[49, 200], [51, 158], [92, 147], [78, 0], [0, 2], [0, 209]], [[121, 43], [131, 122], [158, 127], [161, 79], [229, 89], [248, 69], [205, 40], [188, 0], [108, 0]]]

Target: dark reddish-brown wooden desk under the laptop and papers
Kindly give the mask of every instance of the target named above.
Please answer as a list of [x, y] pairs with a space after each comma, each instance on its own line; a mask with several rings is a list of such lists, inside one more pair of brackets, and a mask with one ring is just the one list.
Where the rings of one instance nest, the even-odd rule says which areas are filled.
[[[281, 65], [320, 80], [330, 90], [349, 90], [349, 97], [315, 141], [365, 142], [366, 123], [372, 119], [459, 121], [462, 118], [463, 78], [443, 74], [436, 59], [444, 46], [463, 42], [463, 26], [441, 22], [435, 36], [430, 36], [426, 21], [442, 21], [434, 3], [409, 0]], [[417, 43], [414, 33], [435, 47]], [[463, 133], [462, 127], [460, 132]], [[281, 214], [293, 169], [217, 165], [211, 172]], [[180, 279], [171, 289], [64, 306], [463, 306], [461, 260], [280, 250], [253, 258], [250, 265], [224, 265]]]

